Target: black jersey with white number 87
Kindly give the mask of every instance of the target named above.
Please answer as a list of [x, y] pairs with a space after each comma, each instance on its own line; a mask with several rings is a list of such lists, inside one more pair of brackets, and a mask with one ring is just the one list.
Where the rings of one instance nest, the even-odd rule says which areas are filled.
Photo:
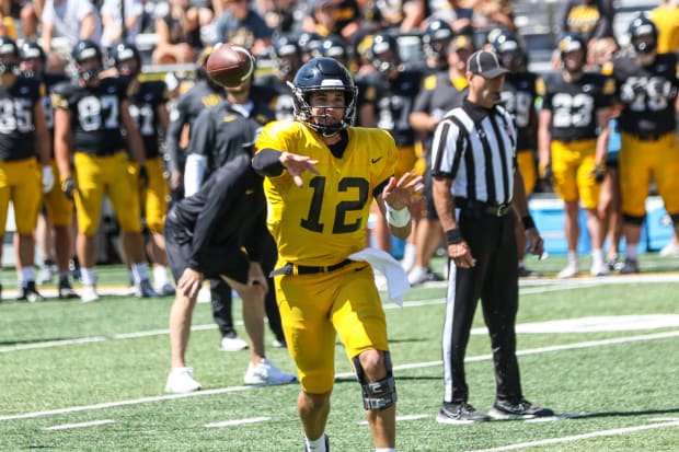
[[127, 148], [120, 130], [120, 103], [127, 98], [125, 86], [120, 80], [107, 78], [96, 86], [61, 83], [54, 88], [55, 108], [70, 111], [76, 151], [112, 155]]

